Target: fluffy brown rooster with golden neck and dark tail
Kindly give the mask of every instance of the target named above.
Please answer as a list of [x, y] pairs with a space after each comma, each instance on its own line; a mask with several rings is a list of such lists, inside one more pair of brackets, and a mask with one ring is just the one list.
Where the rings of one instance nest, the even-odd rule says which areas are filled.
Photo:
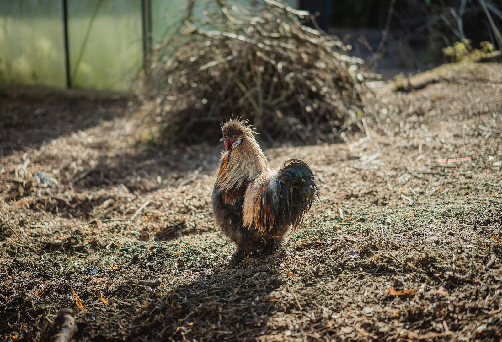
[[212, 194], [216, 224], [237, 245], [234, 259], [270, 253], [298, 229], [319, 196], [312, 170], [298, 159], [270, 169], [247, 120], [229, 120], [221, 133], [226, 151]]

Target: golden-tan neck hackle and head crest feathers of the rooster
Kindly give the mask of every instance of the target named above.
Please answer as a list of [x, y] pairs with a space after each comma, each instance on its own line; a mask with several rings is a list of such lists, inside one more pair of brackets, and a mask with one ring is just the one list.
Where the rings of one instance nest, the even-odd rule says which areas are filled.
[[247, 181], [267, 171], [269, 162], [258, 145], [255, 132], [245, 122], [230, 120], [222, 127], [226, 134], [241, 136], [239, 146], [221, 155], [216, 186], [222, 191], [230, 191], [242, 187]]

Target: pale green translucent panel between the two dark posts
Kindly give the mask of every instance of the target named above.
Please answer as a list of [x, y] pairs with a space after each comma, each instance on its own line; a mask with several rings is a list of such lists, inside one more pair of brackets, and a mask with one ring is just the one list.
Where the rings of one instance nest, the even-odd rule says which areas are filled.
[[128, 91], [143, 63], [140, 0], [68, 0], [71, 86]]

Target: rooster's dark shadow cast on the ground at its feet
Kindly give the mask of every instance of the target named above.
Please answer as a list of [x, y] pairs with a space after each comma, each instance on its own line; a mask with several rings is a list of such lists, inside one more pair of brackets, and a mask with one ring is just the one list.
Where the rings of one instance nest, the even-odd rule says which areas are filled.
[[[173, 289], [135, 318], [130, 335], [150, 340], [256, 340], [274, 311], [270, 299], [281, 285], [279, 270], [247, 259], [238, 269], [201, 271], [197, 280]], [[196, 324], [196, 326], [194, 326]], [[207, 331], [204, 336], [200, 331]]]

